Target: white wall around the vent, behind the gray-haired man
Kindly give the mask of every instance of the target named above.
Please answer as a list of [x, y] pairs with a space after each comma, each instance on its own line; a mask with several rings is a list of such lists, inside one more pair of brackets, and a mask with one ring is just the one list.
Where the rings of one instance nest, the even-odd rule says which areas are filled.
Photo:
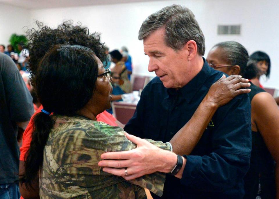
[[[56, 27], [63, 19], [81, 21], [91, 32], [102, 33], [102, 41], [110, 50], [125, 45], [133, 58], [134, 73], [149, 74], [148, 57], [143, 55], [143, 44], [137, 40], [142, 21], [151, 13], [171, 4], [190, 8], [196, 15], [205, 35], [207, 55], [210, 48], [222, 41], [235, 40], [242, 43], [249, 54], [262, 50], [270, 55], [271, 77], [262, 82], [266, 87], [279, 88], [279, 60], [277, 58], [279, 40], [277, 33], [279, 1], [276, 0], [188, 0], [150, 1], [101, 6], [86, 6], [57, 9], [31, 10], [30, 22], [38, 19], [51, 27]], [[241, 24], [239, 36], [217, 35], [217, 24]], [[154, 74], [153, 74], [154, 75]]]

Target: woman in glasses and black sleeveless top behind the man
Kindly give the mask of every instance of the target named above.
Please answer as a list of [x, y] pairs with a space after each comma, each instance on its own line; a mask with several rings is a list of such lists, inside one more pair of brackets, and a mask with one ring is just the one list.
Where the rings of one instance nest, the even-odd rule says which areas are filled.
[[[252, 79], [257, 75], [257, 67], [248, 60], [244, 46], [233, 41], [216, 44], [207, 56], [214, 69]], [[278, 106], [263, 89], [253, 83], [250, 89], [252, 152], [250, 169], [244, 178], [244, 198], [279, 198], [279, 166], [274, 162], [279, 162]]]

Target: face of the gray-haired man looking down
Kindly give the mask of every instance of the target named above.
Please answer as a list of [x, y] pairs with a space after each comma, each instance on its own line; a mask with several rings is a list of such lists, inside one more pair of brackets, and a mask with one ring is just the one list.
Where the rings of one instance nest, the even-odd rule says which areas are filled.
[[151, 33], [143, 41], [144, 53], [149, 56], [148, 71], [155, 71], [166, 88], [181, 88], [188, 82], [191, 69], [187, 64], [187, 51], [175, 51], [164, 43], [164, 29]]

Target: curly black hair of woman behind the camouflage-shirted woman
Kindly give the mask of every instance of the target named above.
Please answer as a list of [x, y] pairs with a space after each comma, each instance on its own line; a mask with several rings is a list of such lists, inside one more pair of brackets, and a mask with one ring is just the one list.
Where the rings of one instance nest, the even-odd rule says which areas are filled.
[[102, 61], [106, 62], [104, 43], [100, 41], [100, 33], [89, 33], [89, 29], [81, 26], [78, 22], [73, 24], [72, 20], [64, 21], [57, 28], [52, 29], [45, 26], [42, 22], [36, 21], [38, 29], [32, 28], [26, 31], [29, 50], [29, 60], [27, 69], [31, 72], [31, 84], [34, 85], [34, 77], [37, 67], [46, 54], [53, 46], [58, 44], [80, 45], [90, 48], [95, 55]]

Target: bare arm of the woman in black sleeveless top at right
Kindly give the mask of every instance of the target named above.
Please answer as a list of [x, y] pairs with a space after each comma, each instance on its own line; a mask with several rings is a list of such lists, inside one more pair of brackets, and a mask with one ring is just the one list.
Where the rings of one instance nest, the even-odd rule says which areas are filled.
[[266, 92], [256, 94], [251, 102], [251, 115], [276, 162], [276, 198], [279, 199], [279, 109], [274, 98]]

